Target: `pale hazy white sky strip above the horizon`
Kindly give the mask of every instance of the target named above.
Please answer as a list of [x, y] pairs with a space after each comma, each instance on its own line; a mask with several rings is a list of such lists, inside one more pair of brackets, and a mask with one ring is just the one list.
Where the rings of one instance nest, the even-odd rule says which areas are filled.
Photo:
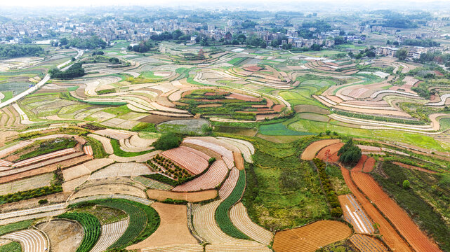
[[[397, 0], [395, 2], [397, 3], [430, 3], [430, 2], [445, 2], [445, 0]], [[446, 0], [447, 2], [449, 0]], [[225, 1], [225, 0], [219, 0], [219, 1], [211, 1], [211, 0], [0, 0], [1, 5], [3, 6], [129, 6], [129, 5], [143, 5], [143, 6], [162, 6], [162, 5], [170, 5], [170, 6], [177, 6], [177, 5], [187, 5], [192, 6], [194, 4], [201, 4], [201, 3], [208, 3], [211, 5], [211, 3], [217, 3], [218, 6], [226, 7], [227, 5], [234, 5], [234, 3], [244, 3], [247, 4], [255, 4], [258, 6], [258, 4], [270, 4], [270, 3], [284, 3], [289, 4], [289, 2], [295, 2], [295, 3], [334, 3], [335, 5], [338, 5], [338, 3], [342, 3], [343, 5], [347, 5], [349, 3], [355, 3], [355, 4], [361, 4], [361, 3], [378, 3], [380, 2], [386, 2], [386, 3], [392, 3], [392, 1], [388, 0], [340, 0], [340, 1], [334, 1], [334, 0], [296, 0], [296, 1], [289, 1], [289, 0], [277, 0], [277, 1], [271, 1], [271, 0], [231, 0], [231, 1]], [[256, 7], [255, 6], [255, 7]], [[380, 8], [383, 8], [383, 6], [380, 6]]]

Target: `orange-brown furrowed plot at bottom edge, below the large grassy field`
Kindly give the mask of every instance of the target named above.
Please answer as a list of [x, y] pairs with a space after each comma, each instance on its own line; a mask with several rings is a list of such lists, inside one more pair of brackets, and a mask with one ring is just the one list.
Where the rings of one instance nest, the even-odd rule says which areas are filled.
[[312, 252], [347, 239], [352, 235], [348, 225], [340, 221], [317, 221], [301, 228], [280, 231], [275, 234], [273, 248], [277, 252]]

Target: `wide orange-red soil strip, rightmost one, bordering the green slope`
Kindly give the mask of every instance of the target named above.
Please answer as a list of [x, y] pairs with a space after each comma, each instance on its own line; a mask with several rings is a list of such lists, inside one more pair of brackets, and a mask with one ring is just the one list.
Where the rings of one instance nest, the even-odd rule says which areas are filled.
[[351, 176], [362, 193], [376, 204], [416, 251], [440, 251], [435, 242], [423, 234], [408, 214], [380, 188], [369, 174], [352, 172]]

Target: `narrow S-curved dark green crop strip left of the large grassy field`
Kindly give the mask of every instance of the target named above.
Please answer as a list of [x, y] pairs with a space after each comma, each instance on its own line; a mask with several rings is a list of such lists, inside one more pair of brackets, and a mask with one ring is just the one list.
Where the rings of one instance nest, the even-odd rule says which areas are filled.
[[239, 172], [239, 179], [237, 180], [236, 186], [234, 187], [230, 196], [228, 196], [216, 209], [216, 222], [219, 228], [225, 232], [225, 234], [230, 235], [238, 239], [250, 239], [241, 230], [238, 230], [232, 223], [230, 219], [230, 209], [236, 204], [244, 193], [245, 181], [246, 181], [245, 171], [241, 170]]

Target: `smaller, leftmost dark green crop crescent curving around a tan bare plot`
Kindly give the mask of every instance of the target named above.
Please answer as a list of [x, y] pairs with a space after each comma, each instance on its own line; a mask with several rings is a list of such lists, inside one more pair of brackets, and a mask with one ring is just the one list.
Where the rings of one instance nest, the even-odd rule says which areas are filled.
[[98, 241], [102, 230], [102, 226], [100, 225], [98, 218], [95, 218], [92, 214], [78, 212], [64, 213], [58, 216], [58, 218], [67, 218], [80, 223], [83, 227], [84, 236], [83, 240], [81, 240], [81, 244], [77, 248], [77, 252], [91, 251], [91, 248], [93, 248], [95, 243]]

